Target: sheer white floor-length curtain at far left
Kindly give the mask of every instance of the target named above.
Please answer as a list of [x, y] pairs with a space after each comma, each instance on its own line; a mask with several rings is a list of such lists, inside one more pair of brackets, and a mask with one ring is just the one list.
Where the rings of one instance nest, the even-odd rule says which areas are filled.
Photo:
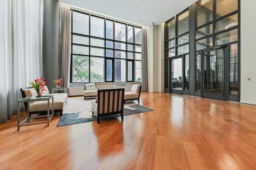
[[[17, 113], [20, 88], [42, 76], [41, 1], [1, 1], [0, 123]], [[2, 38], [4, 37], [4, 38]], [[2, 49], [3, 48], [3, 49]]]

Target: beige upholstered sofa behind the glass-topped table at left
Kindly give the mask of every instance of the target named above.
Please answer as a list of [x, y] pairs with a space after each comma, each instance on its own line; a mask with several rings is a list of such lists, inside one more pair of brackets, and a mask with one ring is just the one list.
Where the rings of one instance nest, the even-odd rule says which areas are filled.
[[[60, 116], [62, 116], [63, 108], [65, 103], [67, 102], [68, 99], [68, 94], [67, 93], [54, 93], [50, 94], [48, 87], [44, 86], [46, 91], [42, 95], [53, 95], [53, 109], [54, 112], [60, 112]], [[34, 96], [34, 87], [27, 87], [20, 89], [22, 97], [28, 97], [28, 96]], [[24, 103], [26, 111], [27, 111], [27, 103]], [[29, 105], [29, 115], [35, 114], [35, 113], [47, 113], [47, 101], [36, 101], [36, 102], [30, 102]], [[50, 100], [50, 111], [52, 110], [52, 100]]]

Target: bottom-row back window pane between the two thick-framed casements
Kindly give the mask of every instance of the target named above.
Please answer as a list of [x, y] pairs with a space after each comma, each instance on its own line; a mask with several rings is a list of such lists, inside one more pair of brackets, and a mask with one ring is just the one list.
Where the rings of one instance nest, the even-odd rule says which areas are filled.
[[115, 59], [115, 82], [126, 81], [125, 59]]

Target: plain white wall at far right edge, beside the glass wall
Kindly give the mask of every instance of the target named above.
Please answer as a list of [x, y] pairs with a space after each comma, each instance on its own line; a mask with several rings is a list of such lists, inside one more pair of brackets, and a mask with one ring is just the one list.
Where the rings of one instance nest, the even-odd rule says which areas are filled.
[[[256, 0], [241, 0], [241, 91], [240, 102], [256, 105], [256, 34], [253, 12]], [[250, 81], [247, 81], [250, 77]]]

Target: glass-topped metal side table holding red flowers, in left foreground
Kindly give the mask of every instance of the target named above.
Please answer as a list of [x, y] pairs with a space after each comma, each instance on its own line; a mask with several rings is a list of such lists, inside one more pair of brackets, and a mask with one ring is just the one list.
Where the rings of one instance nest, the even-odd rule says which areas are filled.
[[[51, 115], [50, 115], [50, 99], [52, 99], [52, 114]], [[36, 101], [47, 101], [47, 115], [29, 117], [29, 103], [36, 102]], [[27, 117], [22, 122], [20, 122], [20, 103], [21, 102], [28, 102]], [[18, 100], [18, 131], [20, 131], [20, 126], [33, 125], [33, 124], [38, 124], [38, 123], [47, 122], [47, 126], [50, 126], [50, 120], [53, 118], [53, 115], [54, 115], [53, 103], [54, 103], [53, 95], [42, 96], [42, 97], [29, 96], [29, 97], [24, 97], [22, 99], [19, 99]], [[47, 117], [47, 121], [29, 123], [30, 118], [40, 118], [40, 117]], [[28, 123], [24, 124], [26, 121], [28, 121]]]

